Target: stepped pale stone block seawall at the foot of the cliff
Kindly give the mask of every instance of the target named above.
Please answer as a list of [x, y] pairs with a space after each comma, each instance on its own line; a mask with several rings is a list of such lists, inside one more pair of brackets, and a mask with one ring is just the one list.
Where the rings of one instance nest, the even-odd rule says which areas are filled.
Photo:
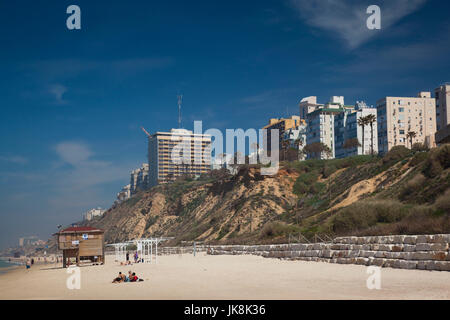
[[450, 234], [340, 237], [331, 243], [211, 246], [208, 254], [450, 271]]

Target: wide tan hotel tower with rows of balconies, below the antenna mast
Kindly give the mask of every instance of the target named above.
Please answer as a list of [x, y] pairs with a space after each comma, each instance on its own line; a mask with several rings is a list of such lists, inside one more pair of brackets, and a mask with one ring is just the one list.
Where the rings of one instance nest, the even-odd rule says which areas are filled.
[[211, 171], [211, 136], [185, 129], [156, 132], [148, 139], [149, 186]]

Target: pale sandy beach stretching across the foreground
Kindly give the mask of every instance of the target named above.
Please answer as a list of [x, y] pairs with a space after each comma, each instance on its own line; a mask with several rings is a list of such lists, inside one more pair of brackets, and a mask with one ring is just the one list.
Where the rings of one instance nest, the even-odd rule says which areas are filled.
[[[0, 299], [450, 299], [450, 272], [384, 268], [381, 290], [369, 290], [364, 266], [250, 255], [168, 255], [132, 266], [108, 257], [80, 270], [81, 288], [69, 290], [59, 265], [19, 267], [0, 275]], [[128, 270], [145, 281], [111, 283]]]

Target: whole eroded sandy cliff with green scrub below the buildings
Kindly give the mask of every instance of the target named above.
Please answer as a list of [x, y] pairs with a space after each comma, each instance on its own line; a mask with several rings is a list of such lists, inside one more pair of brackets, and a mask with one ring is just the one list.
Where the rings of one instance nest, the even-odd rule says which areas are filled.
[[245, 166], [235, 176], [140, 192], [89, 224], [104, 229], [109, 243], [150, 236], [174, 237], [179, 244], [287, 241], [300, 233], [445, 233], [447, 147], [286, 163], [275, 176]]

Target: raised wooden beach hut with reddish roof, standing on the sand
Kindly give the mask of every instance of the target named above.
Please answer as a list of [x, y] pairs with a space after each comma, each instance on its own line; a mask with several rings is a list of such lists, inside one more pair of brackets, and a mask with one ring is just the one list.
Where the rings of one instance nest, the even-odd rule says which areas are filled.
[[92, 227], [70, 227], [56, 235], [58, 249], [63, 252], [63, 268], [75, 258], [76, 264], [83, 261], [105, 263], [105, 232]]

